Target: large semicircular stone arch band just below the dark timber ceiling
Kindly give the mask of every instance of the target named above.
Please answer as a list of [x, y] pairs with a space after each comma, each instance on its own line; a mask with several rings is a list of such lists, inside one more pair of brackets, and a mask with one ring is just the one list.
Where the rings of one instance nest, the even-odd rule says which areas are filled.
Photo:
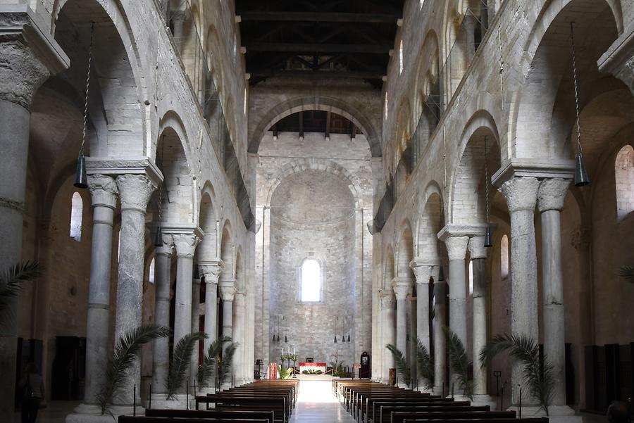
[[378, 130], [372, 120], [353, 106], [340, 100], [325, 96], [302, 96], [279, 103], [271, 108], [262, 120], [254, 126], [254, 130], [249, 130], [249, 153], [257, 153], [260, 141], [275, 122], [288, 115], [299, 111], [318, 110], [330, 111], [347, 118], [358, 127], [368, 139], [370, 151], [373, 157], [381, 156], [381, 140]]

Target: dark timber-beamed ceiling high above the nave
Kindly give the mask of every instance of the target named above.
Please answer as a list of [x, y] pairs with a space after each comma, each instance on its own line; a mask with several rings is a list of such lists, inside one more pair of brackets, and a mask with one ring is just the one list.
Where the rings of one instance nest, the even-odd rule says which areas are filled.
[[237, 0], [251, 85], [353, 77], [380, 88], [404, 0]]

